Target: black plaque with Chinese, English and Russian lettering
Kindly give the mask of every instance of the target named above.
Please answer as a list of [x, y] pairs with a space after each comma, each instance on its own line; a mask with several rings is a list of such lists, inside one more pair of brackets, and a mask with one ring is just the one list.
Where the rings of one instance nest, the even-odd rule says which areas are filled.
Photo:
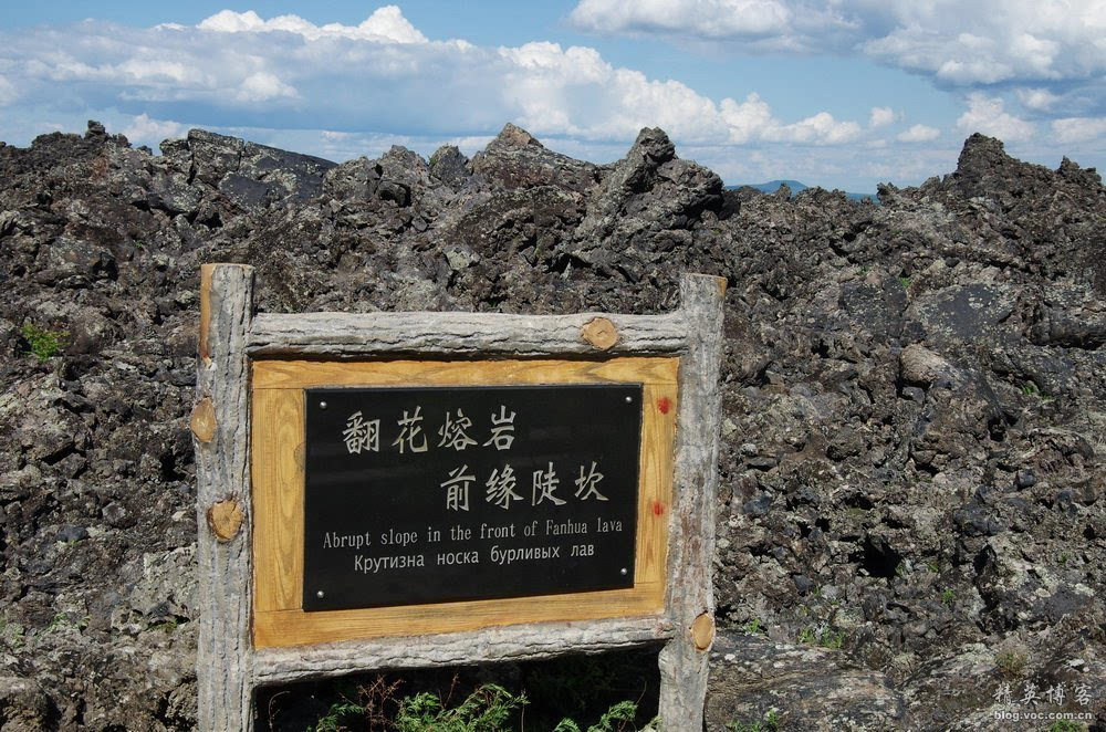
[[641, 397], [306, 389], [303, 609], [633, 587]]

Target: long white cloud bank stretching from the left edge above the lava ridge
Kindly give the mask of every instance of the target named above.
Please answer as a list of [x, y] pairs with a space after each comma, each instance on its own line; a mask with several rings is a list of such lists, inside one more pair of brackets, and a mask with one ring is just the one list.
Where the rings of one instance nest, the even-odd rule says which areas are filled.
[[[750, 0], [747, 10], [779, 1]], [[633, 139], [659, 126], [713, 145], [841, 145], [862, 132], [818, 109], [780, 119], [755, 94], [711, 98], [616, 66], [592, 48], [429, 40], [395, 6], [357, 25], [223, 10], [192, 28], [82, 23], [0, 33], [0, 69], [22, 69], [14, 81], [32, 82], [40, 103], [53, 103], [64, 84], [71, 103], [150, 119], [416, 136], [486, 133], [512, 121], [587, 140]]]

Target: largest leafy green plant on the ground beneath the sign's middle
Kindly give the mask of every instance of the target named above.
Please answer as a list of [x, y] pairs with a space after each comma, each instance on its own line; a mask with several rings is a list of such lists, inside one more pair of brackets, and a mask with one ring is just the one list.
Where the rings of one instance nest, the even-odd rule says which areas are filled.
[[526, 704], [525, 694], [512, 694], [494, 683], [486, 683], [460, 705], [446, 709], [429, 692], [407, 697], [399, 703], [396, 729], [399, 732], [500, 732], [511, 712]]

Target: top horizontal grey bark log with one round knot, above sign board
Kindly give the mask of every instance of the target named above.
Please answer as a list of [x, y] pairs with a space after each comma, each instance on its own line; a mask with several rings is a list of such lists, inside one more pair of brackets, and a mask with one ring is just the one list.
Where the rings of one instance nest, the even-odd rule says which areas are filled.
[[[585, 326], [611, 322], [617, 343], [605, 351]], [[554, 354], [671, 354], [687, 345], [682, 313], [664, 315], [507, 315], [502, 313], [259, 314], [250, 332], [251, 356], [349, 357], [435, 354], [547, 356]], [[601, 344], [602, 345], [602, 344]]]

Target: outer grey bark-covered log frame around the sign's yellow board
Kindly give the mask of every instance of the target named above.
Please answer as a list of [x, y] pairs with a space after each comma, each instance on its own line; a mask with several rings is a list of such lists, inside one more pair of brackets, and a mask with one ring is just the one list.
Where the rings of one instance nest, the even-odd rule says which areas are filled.
[[[486, 313], [253, 314], [253, 269], [200, 276], [196, 406], [199, 729], [250, 731], [258, 687], [386, 668], [520, 661], [664, 644], [666, 729], [702, 726], [713, 639], [718, 376], [724, 280], [685, 275], [664, 315]], [[659, 613], [493, 625], [473, 630], [257, 648], [252, 598], [251, 372], [283, 359], [604, 359], [678, 356], [679, 391], [667, 585]]]

